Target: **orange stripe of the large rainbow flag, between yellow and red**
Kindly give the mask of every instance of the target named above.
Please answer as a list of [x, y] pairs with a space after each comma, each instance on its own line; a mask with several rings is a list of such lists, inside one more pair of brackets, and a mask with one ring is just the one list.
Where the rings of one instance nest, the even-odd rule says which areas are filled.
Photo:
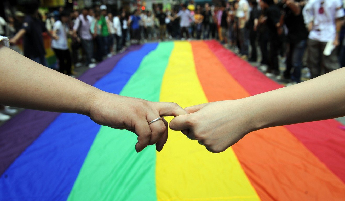
[[[206, 43], [191, 44], [197, 74], [209, 101], [249, 96]], [[285, 127], [255, 131], [232, 148], [262, 200], [345, 199], [344, 183]]]

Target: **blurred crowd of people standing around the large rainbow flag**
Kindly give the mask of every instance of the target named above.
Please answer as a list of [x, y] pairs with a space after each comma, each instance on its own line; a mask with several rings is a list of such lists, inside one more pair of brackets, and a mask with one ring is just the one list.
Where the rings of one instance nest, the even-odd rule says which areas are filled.
[[[310, 78], [345, 66], [341, 0], [234, 0], [212, 6], [191, 0], [169, 10], [158, 5], [131, 13], [113, 10], [106, 5], [61, 7], [43, 22], [38, 5], [31, 4], [25, 14], [0, 17], [0, 35], [8, 36], [12, 47], [23, 38], [24, 56], [47, 66], [42, 33], [48, 34], [57, 70], [72, 77], [72, 66], [83, 62], [93, 68], [130, 44], [152, 40], [216, 39], [242, 59], [258, 62], [268, 77], [287, 80], [288, 85], [301, 82], [305, 58]], [[284, 72], [279, 70], [279, 57], [285, 58]], [[16, 113], [0, 109], [2, 121]]]

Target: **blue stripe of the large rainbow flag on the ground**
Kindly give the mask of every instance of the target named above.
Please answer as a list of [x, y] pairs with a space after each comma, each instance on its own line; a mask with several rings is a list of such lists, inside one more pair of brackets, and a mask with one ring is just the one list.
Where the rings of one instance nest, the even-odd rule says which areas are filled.
[[[119, 94], [157, 45], [128, 53], [94, 86]], [[2, 174], [0, 200], [67, 200], [99, 129], [87, 116], [62, 113]]]

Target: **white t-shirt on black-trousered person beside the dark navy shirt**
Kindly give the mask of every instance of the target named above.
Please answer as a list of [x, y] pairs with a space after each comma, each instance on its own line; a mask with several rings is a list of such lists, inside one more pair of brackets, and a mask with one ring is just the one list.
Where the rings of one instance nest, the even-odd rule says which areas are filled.
[[60, 20], [56, 21], [53, 26], [53, 31], [56, 31], [56, 35], [59, 37], [58, 40], [53, 39], [51, 41], [51, 47], [59, 50], [68, 50], [67, 45], [67, 33], [68, 28], [62, 24]]

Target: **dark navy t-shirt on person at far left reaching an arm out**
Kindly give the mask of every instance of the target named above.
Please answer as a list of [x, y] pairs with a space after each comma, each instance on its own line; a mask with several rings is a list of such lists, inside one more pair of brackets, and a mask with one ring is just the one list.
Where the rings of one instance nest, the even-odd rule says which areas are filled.
[[42, 33], [47, 29], [44, 23], [37, 18], [27, 16], [24, 19], [24, 56], [28, 58], [42, 57], [46, 54]]

